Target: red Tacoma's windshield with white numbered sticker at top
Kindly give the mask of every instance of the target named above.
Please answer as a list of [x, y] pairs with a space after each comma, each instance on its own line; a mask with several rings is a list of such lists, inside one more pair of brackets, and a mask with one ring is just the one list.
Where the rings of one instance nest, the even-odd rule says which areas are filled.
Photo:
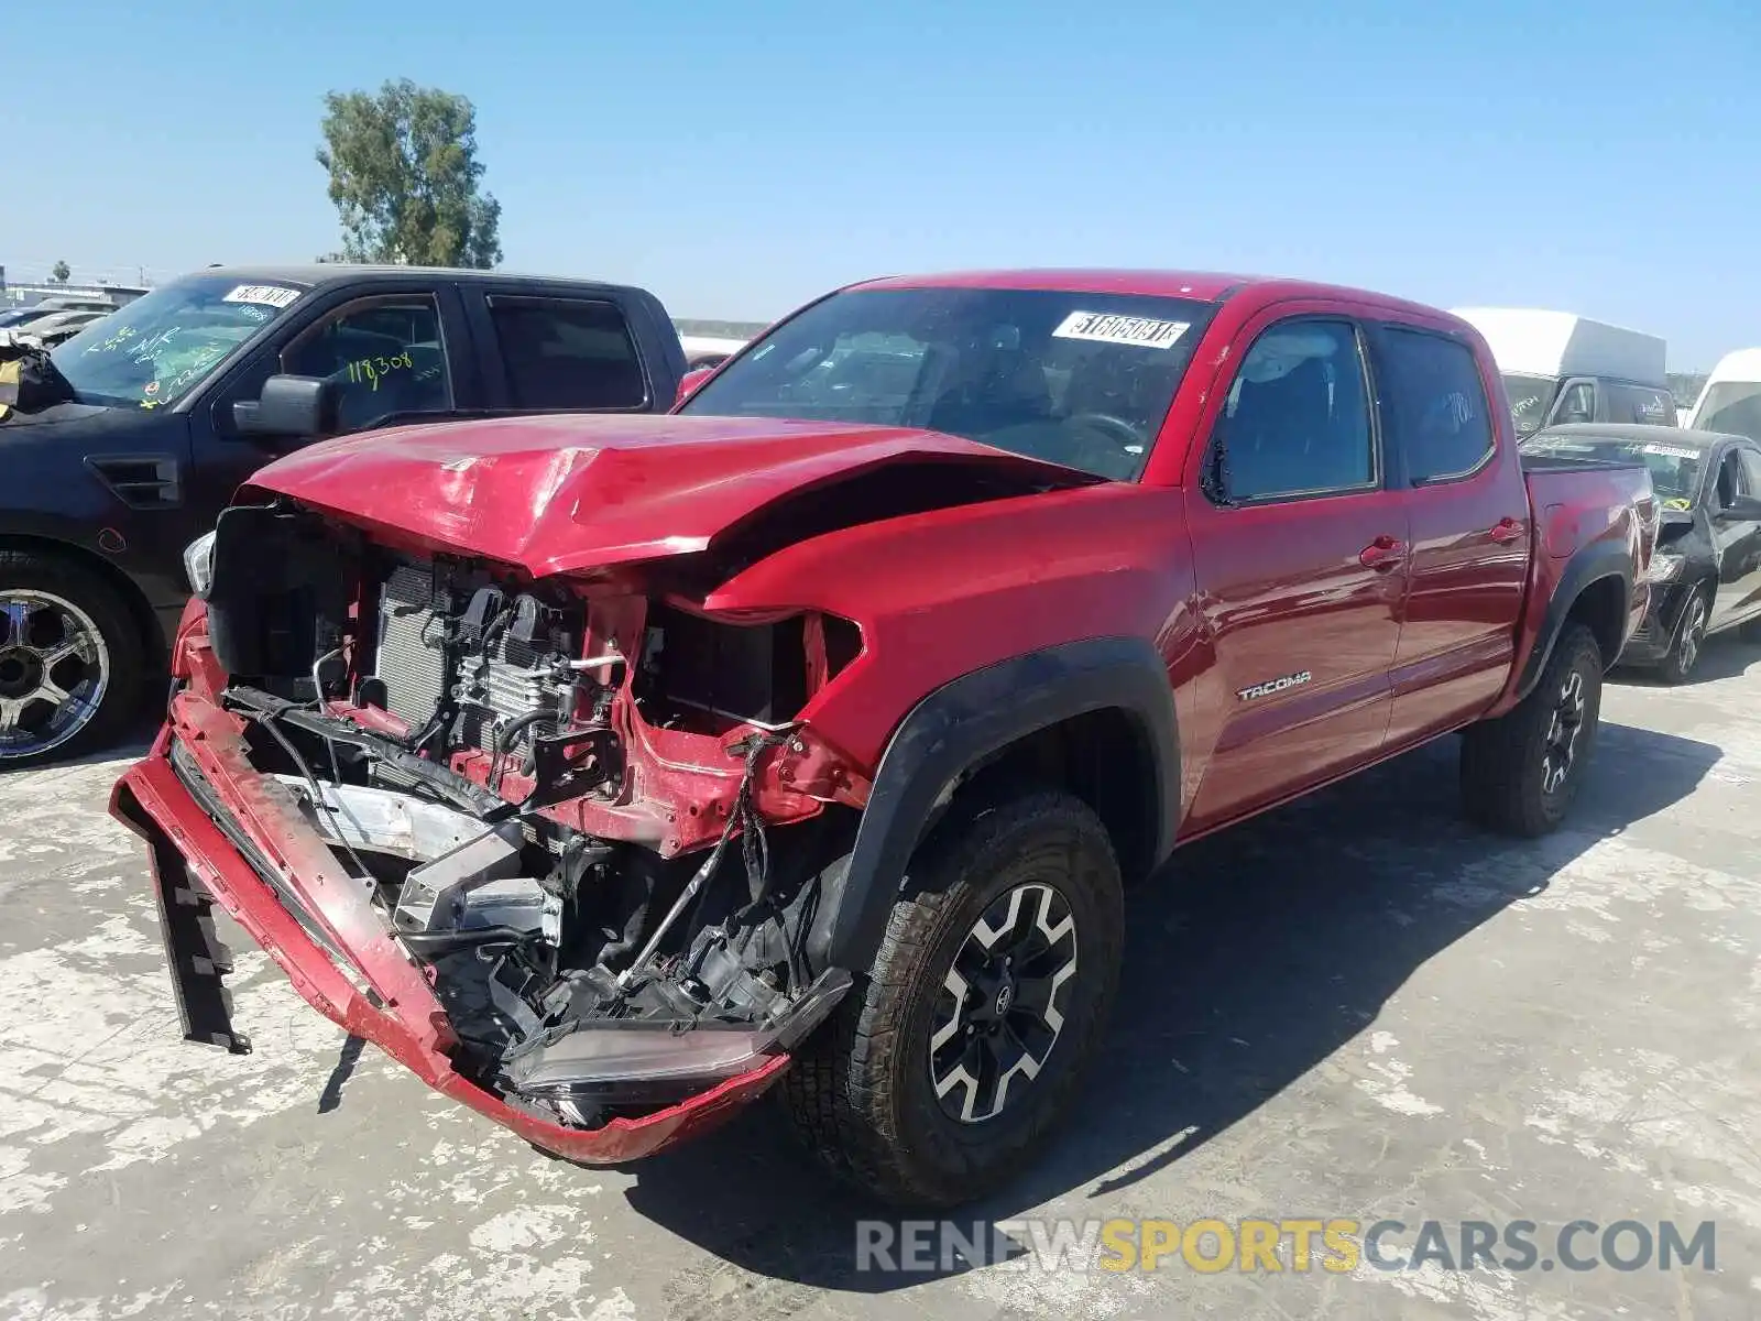
[[815, 303], [682, 412], [919, 426], [1134, 481], [1213, 305], [1044, 289]]

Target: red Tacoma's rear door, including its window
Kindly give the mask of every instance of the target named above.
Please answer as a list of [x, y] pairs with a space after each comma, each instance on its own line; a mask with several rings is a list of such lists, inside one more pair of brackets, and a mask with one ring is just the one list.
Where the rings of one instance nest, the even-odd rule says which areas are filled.
[[1462, 724], [1502, 690], [1529, 574], [1529, 490], [1488, 379], [1446, 329], [1374, 331], [1389, 469], [1412, 550], [1393, 669], [1389, 745]]

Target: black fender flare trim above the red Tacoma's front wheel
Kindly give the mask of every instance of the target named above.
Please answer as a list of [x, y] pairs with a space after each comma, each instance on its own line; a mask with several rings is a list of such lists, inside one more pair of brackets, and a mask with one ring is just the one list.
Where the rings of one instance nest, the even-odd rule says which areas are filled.
[[1027, 652], [944, 683], [900, 722], [875, 770], [856, 842], [826, 877], [810, 958], [865, 972], [886, 935], [910, 854], [962, 775], [1028, 734], [1109, 708], [1138, 724], [1153, 766], [1146, 786], [1153, 796], [1150, 867], [1160, 865], [1180, 823], [1180, 740], [1168, 662], [1141, 638]]

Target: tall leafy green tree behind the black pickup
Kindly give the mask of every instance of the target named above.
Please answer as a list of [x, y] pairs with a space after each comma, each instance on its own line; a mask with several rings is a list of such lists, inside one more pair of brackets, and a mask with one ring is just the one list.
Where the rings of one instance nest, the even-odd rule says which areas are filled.
[[479, 190], [477, 111], [468, 97], [386, 83], [324, 97], [329, 197], [340, 261], [490, 268], [502, 259], [502, 204]]

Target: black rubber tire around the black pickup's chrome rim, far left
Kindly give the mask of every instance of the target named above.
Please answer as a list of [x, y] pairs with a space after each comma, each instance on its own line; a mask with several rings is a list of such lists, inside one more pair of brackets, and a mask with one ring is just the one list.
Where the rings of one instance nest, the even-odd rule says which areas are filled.
[[139, 713], [146, 669], [146, 646], [129, 604], [85, 565], [42, 551], [0, 550], [0, 594], [9, 590], [44, 592], [77, 606], [104, 641], [109, 678], [97, 710], [77, 733], [41, 752], [9, 756], [0, 749], [0, 773], [109, 747]]

